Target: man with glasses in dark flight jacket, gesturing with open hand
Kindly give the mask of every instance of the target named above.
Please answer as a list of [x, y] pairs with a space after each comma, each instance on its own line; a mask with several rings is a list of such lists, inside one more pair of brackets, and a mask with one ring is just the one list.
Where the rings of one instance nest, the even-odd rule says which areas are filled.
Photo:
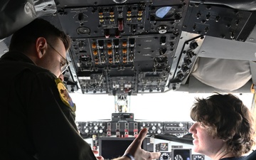
[[[0, 159], [104, 159], [80, 136], [75, 103], [60, 80], [69, 48], [70, 38], [42, 18], [11, 36], [0, 58]], [[146, 132], [117, 159], [158, 159], [159, 152], [141, 149]]]

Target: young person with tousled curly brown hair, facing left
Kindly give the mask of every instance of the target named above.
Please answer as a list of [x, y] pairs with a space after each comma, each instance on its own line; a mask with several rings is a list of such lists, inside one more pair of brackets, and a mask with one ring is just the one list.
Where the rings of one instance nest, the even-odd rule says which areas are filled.
[[213, 160], [242, 160], [255, 147], [255, 119], [232, 94], [196, 98], [189, 129], [193, 151]]

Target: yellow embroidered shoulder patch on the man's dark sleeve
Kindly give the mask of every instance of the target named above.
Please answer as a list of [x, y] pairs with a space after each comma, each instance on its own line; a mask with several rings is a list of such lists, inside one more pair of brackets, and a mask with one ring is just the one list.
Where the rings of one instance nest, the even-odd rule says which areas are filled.
[[70, 109], [73, 112], [75, 112], [76, 110], [75, 103], [73, 103], [70, 95], [68, 95], [68, 90], [63, 84], [63, 82], [59, 78], [57, 78], [55, 79], [55, 83], [57, 85], [58, 92], [60, 93], [60, 99], [64, 102], [65, 105], [70, 107]]

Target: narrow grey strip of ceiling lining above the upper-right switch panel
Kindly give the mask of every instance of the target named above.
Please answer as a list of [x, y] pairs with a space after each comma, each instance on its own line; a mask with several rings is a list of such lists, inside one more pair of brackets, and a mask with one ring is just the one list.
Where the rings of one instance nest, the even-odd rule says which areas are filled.
[[218, 4], [229, 6], [232, 9], [244, 10], [244, 11], [256, 11], [256, 1], [255, 0], [191, 0], [191, 3], [196, 4]]

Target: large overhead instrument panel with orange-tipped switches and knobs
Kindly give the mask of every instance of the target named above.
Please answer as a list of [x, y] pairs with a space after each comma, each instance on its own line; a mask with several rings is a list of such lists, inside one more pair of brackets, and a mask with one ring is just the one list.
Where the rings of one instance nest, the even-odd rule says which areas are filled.
[[137, 95], [186, 84], [206, 36], [245, 41], [253, 11], [182, 1], [64, 1], [54, 15], [72, 39], [68, 90]]

